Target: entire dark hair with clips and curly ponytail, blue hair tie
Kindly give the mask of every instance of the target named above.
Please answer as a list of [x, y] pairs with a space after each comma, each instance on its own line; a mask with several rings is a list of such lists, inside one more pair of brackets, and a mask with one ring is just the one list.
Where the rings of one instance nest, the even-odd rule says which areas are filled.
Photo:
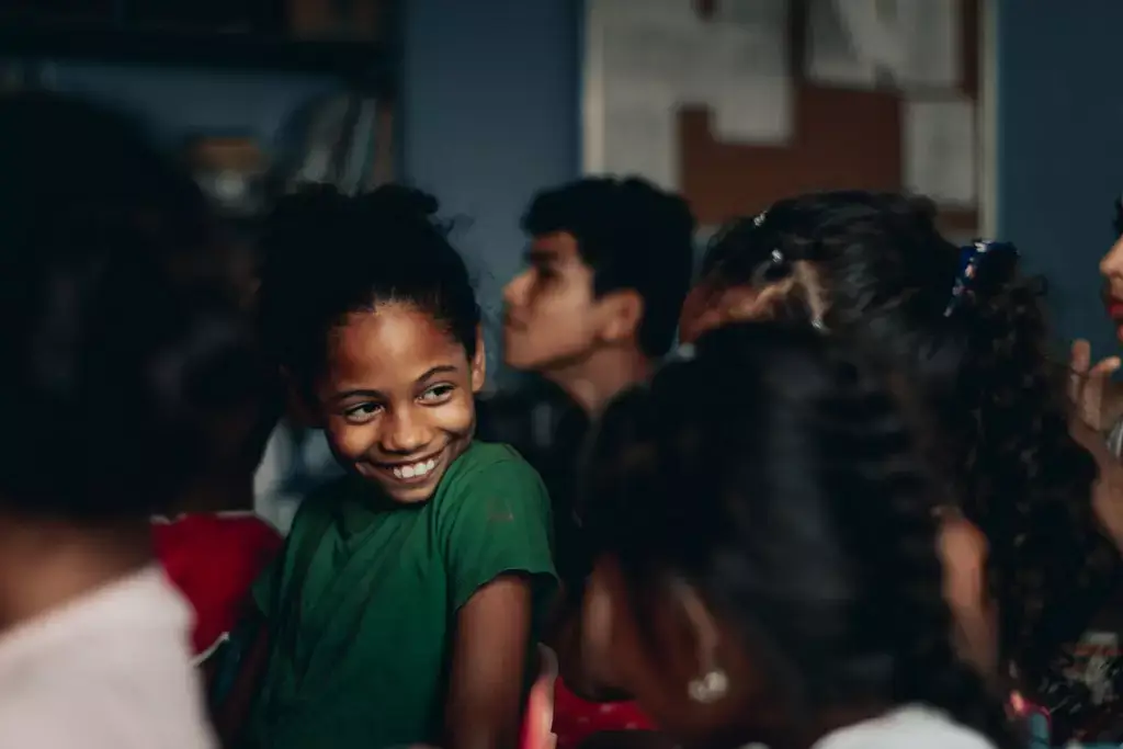
[[833, 192], [731, 225], [701, 287], [756, 287], [760, 316], [819, 321], [907, 383], [925, 451], [987, 537], [999, 656], [1032, 683], [1103, 603], [1119, 555], [1093, 513], [1093, 458], [1069, 435], [1043, 283], [1015, 252], [989, 253], [950, 303], [959, 273], [928, 201]]

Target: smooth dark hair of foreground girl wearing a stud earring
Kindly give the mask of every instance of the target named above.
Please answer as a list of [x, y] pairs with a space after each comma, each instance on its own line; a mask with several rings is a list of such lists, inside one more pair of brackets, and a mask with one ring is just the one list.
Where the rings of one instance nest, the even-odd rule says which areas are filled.
[[800, 725], [922, 703], [1012, 747], [952, 649], [922, 465], [896, 401], [837, 340], [739, 323], [610, 407], [588, 530], [641, 628], [660, 586], [688, 583]]

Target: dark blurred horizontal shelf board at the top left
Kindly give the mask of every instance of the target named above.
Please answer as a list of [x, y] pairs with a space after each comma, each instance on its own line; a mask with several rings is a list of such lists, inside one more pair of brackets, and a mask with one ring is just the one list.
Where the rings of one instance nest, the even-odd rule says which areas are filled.
[[376, 42], [100, 24], [0, 22], [0, 57], [313, 73], [344, 77], [376, 93], [389, 93], [395, 79], [391, 55]]

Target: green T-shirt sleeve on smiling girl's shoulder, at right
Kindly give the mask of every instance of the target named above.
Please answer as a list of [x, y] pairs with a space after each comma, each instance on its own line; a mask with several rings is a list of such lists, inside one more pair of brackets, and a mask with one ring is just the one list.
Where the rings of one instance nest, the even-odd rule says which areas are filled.
[[505, 573], [530, 575], [537, 600], [553, 592], [550, 503], [538, 473], [512, 451], [459, 484], [438, 520], [453, 610]]

